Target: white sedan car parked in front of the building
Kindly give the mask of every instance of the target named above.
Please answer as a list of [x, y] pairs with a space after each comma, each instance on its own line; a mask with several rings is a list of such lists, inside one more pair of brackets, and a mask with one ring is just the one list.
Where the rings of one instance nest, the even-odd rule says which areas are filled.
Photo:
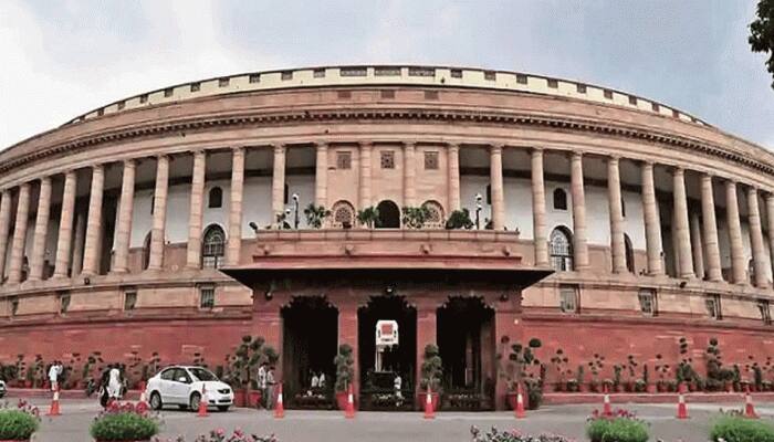
[[208, 407], [227, 411], [233, 404], [231, 387], [201, 367], [167, 367], [148, 380], [145, 394], [154, 410], [174, 404], [196, 411], [199, 409], [202, 388], [207, 389]]

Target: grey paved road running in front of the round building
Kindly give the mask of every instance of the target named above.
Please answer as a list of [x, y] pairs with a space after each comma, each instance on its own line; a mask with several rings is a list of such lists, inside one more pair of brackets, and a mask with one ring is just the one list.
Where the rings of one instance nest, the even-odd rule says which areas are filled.
[[[41, 409], [48, 402], [35, 400]], [[293, 411], [285, 419], [274, 420], [266, 411], [237, 409], [226, 413], [211, 412], [209, 418], [197, 418], [195, 413], [165, 410], [161, 412], [163, 438], [185, 435], [192, 441], [198, 434], [212, 429], [233, 430], [240, 428], [257, 434], [274, 433], [280, 442], [317, 441], [470, 441], [470, 427], [488, 429], [516, 428], [524, 432], [553, 432], [585, 440], [586, 418], [594, 407], [557, 406], [532, 411], [524, 420], [516, 421], [508, 412], [440, 412], [436, 420], [426, 421], [421, 413], [359, 412], [354, 420], [345, 420], [337, 411]], [[678, 421], [673, 418], [673, 404], [632, 404], [627, 407], [650, 422], [652, 439], [661, 438], [674, 442], [707, 442], [710, 419], [717, 414], [718, 404], [690, 404], [691, 419]], [[728, 407], [725, 407], [728, 409]], [[774, 402], [759, 404], [756, 410], [764, 419], [774, 419]], [[64, 415], [43, 418], [39, 442], [88, 442], [88, 424], [98, 412], [94, 401], [66, 400], [62, 402]]]

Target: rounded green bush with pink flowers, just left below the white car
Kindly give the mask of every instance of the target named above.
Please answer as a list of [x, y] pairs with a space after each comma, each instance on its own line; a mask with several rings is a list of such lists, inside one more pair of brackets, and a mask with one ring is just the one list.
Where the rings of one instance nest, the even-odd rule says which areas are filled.
[[145, 442], [158, 434], [159, 422], [148, 415], [147, 407], [132, 402], [111, 402], [88, 429], [96, 442]]

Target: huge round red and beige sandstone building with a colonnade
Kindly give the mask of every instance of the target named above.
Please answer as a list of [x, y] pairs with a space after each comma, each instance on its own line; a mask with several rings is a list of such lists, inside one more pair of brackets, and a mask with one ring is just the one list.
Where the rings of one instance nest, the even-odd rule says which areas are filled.
[[0, 361], [215, 367], [262, 336], [292, 397], [348, 344], [363, 398], [385, 373], [412, 391], [437, 344], [448, 391], [502, 407], [503, 351], [533, 337], [571, 370], [676, 364], [680, 338], [761, 360], [773, 177], [770, 151], [687, 113], [540, 75], [170, 86], [0, 152]]

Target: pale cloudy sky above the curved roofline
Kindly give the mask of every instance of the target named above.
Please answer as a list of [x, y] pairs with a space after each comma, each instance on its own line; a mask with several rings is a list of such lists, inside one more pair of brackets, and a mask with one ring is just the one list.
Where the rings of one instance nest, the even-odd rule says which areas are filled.
[[653, 98], [774, 149], [753, 0], [0, 0], [0, 149], [101, 105], [224, 74], [480, 66]]

